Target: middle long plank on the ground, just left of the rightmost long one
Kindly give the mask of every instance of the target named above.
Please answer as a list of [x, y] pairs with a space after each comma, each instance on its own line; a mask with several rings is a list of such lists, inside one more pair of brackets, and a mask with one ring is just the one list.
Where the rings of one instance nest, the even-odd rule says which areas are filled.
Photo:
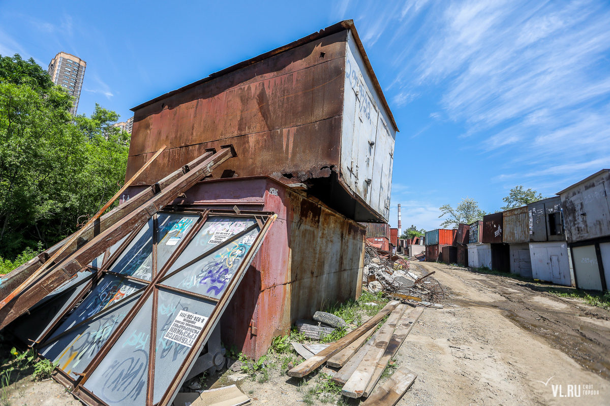
[[384, 351], [386, 351], [387, 344], [389, 343], [390, 338], [392, 338], [396, 324], [403, 315], [406, 307], [406, 304], [398, 306], [387, 319], [386, 323], [381, 326], [377, 338], [373, 341], [373, 345], [371, 345], [367, 355], [360, 362], [356, 371], [351, 374], [350, 379], [343, 385], [343, 389], [341, 390], [343, 396], [354, 398], [362, 396], [362, 393], [364, 393], [364, 390], [368, 386], [368, 382], [370, 382], [371, 377], [373, 377], [373, 372], [375, 372], [379, 360], [383, 356]]

